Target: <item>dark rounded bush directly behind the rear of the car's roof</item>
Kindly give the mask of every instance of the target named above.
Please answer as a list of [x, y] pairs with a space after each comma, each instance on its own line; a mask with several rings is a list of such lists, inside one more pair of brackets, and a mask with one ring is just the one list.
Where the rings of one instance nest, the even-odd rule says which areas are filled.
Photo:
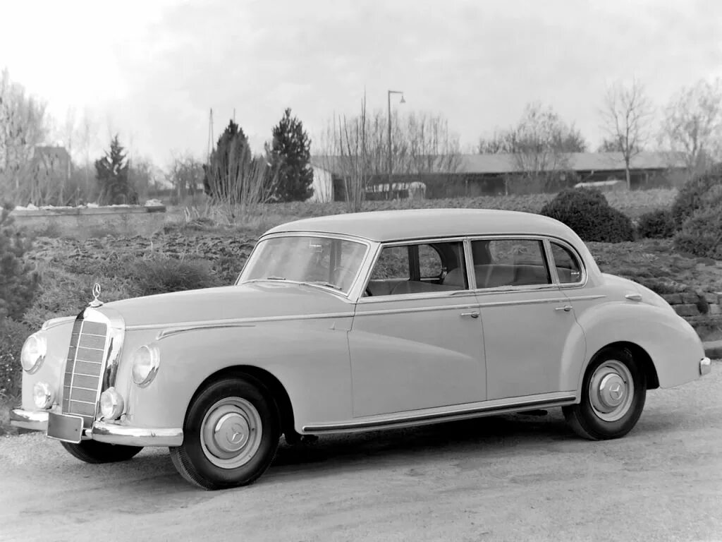
[[584, 241], [620, 243], [634, 240], [632, 220], [613, 209], [596, 189], [566, 189], [541, 208], [541, 215], [572, 228]]

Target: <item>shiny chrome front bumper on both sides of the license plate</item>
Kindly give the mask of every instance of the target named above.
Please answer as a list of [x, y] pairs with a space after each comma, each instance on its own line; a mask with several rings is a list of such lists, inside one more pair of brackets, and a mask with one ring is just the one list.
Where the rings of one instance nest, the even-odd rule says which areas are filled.
[[[10, 410], [10, 424], [33, 431], [48, 430], [46, 411]], [[125, 446], [168, 446], [183, 444], [183, 429], [149, 429], [147, 427], [124, 426], [107, 421], [94, 421], [90, 429], [83, 429], [83, 439], [123, 444]]]

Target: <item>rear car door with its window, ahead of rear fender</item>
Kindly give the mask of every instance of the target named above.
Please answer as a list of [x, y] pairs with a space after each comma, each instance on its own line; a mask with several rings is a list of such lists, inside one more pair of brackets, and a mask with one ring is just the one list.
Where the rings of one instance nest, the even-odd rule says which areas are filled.
[[484, 327], [487, 398], [560, 390], [562, 353], [578, 324], [547, 262], [542, 238], [471, 241]]

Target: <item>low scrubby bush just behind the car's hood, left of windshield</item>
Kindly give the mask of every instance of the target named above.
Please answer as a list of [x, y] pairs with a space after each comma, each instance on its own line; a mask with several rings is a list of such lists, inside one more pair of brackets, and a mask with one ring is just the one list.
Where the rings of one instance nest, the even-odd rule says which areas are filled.
[[181, 260], [158, 256], [135, 262], [129, 267], [128, 275], [137, 296], [220, 285], [220, 281], [204, 260]]

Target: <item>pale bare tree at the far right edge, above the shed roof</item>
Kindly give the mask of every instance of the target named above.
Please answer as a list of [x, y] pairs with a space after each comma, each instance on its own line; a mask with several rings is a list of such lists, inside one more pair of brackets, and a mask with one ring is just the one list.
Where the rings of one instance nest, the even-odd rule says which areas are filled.
[[661, 142], [684, 157], [690, 175], [722, 158], [722, 79], [700, 79], [672, 96], [664, 111]]

